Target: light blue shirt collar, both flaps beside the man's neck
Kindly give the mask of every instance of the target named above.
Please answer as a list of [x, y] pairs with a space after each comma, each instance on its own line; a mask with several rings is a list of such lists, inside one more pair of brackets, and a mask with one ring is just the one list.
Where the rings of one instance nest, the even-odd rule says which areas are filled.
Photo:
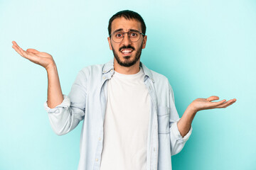
[[[151, 81], [154, 83], [153, 74], [150, 69], [148, 69], [142, 62], [139, 62], [139, 67], [142, 67], [145, 77], [149, 77]], [[102, 74], [106, 74], [110, 72], [110, 70], [114, 69], [114, 58], [112, 58], [109, 62], [104, 64], [102, 69]]]

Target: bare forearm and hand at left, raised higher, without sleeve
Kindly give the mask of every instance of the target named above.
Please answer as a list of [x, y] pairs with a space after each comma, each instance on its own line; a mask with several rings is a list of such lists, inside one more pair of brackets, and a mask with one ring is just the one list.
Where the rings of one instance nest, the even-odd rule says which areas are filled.
[[58, 71], [53, 57], [46, 52], [38, 52], [35, 49], [23, 50], [13, 41], [14, 50], [22, 57], [30, 60], [33, 63], [39, 64], [46, 69], [48, 75], [48, 106], [55, 108], [63, 101], [63, 94], [60, 87]]

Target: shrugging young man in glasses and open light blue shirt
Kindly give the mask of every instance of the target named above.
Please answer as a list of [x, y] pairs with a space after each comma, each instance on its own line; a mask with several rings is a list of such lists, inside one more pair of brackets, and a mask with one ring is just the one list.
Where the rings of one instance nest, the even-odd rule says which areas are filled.
[[54, 132], [64, 135], [84, 120], [78, 169], [171, 169], [171, 155], [180, 152], [191, 135], [196, 113], [225, 108], [235, 99], [197, 98], [179, 119], [168, 79], [140, 62], [147, 38], [142, 17], [119, 11], [110, 18], [108, 29], [114, 59], [80, 70], [68, 96], [62, 94], [51, 55], [24, 51], [16, 42], [13, 47], [46, 68], [45, 108]]

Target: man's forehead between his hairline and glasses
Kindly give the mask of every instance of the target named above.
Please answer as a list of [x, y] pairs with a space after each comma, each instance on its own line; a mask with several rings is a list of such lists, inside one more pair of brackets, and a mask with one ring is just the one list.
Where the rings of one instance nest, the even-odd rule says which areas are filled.
[[139, 21], [135, 19], [127, 20], [124, 17], [115, 18], [114, 21], [112, 21], [111, 31], [113, 33], [114, 30], [118, 30], [118, 29], [123, 29], [125, 32], [130, 29], [139, 30], [139, 32], [142, 32], [142, 25]]

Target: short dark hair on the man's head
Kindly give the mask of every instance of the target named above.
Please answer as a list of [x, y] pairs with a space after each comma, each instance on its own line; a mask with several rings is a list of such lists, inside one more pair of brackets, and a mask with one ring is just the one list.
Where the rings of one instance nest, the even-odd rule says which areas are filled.
[[121, 18], [121, 17], [124, 17], [127, 20], [135, 19], [135, 20], [139, 21], [141, 23], [141, 25], [142, 25], [142, 33], [144, 35], [146, 34], [146, 25], [144, 23], [144, 20], [143, 20], [142, 16], [140, 16], [139, 13], [137, 13], [137, 12], [129, 11], [129, 10], [124, 10], [124, 11], [117, 12], [116, 14], [114, 14], [114, 16], [112, 16], [110, 18], [109, 26], [108, 26], [109, 35], [111, 34], [112, 22], [114, 21], [114, 19]]

